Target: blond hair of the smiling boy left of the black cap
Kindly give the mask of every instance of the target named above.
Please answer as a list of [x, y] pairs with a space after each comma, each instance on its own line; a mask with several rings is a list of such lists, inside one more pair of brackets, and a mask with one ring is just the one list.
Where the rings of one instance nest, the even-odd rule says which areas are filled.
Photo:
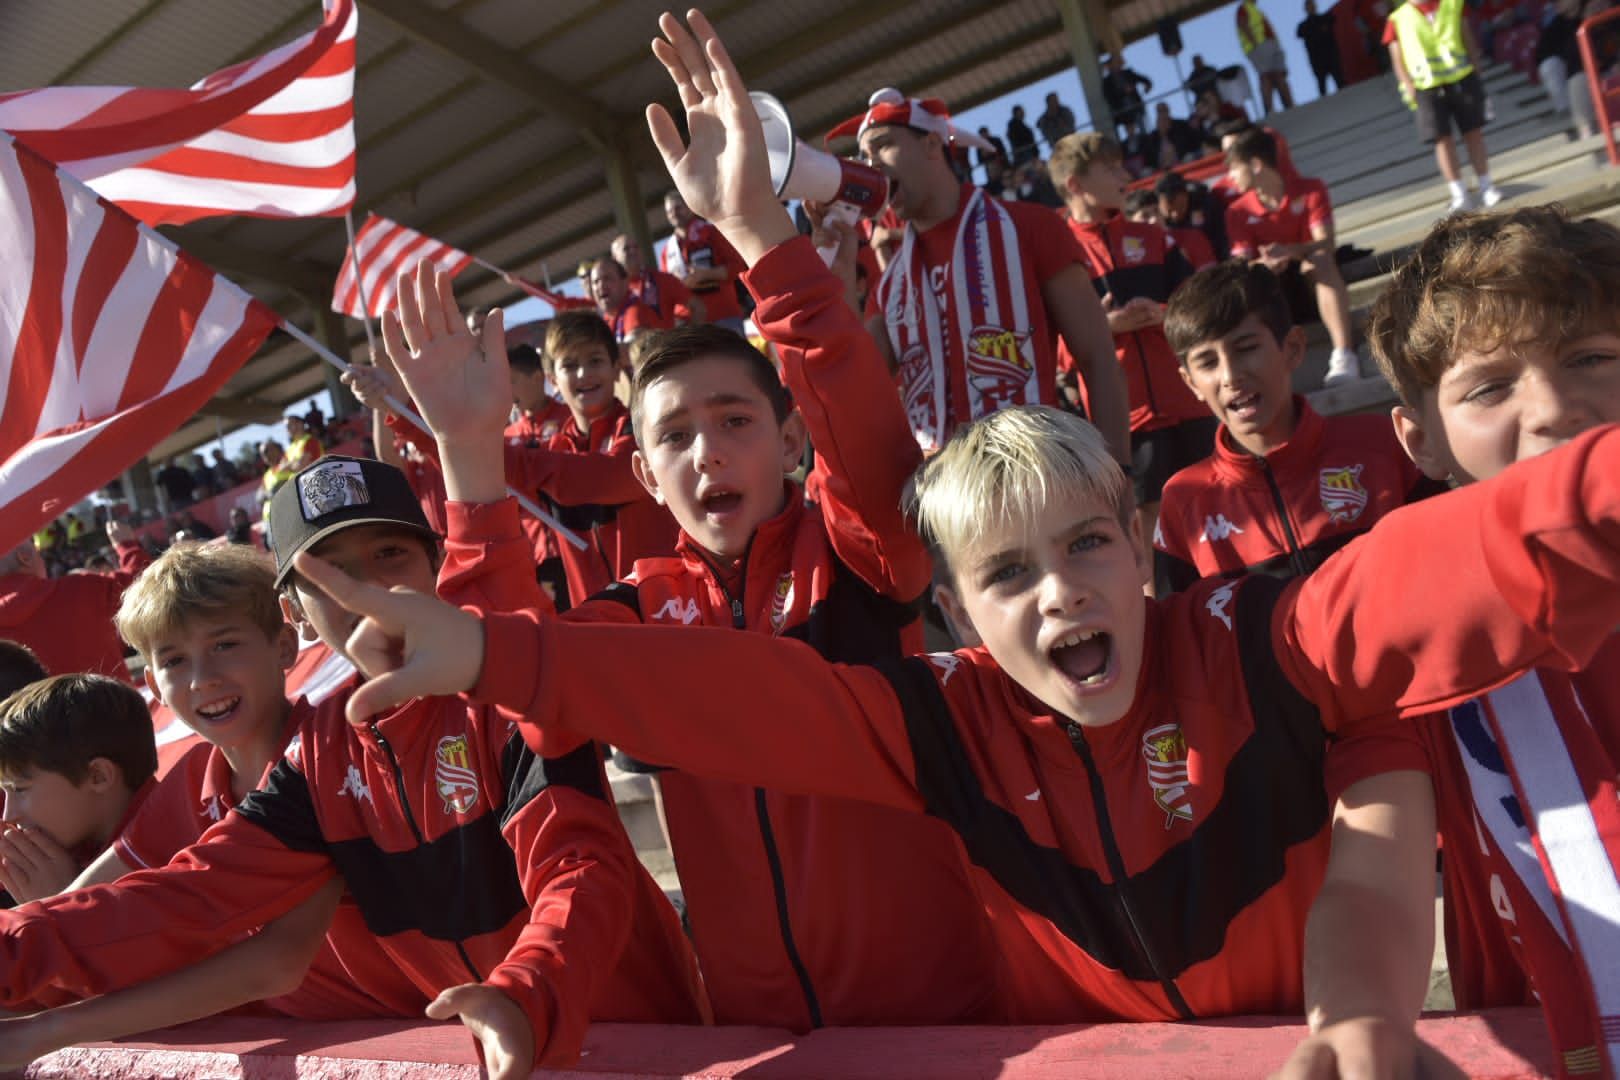
[[118, 633], [151, 662], [190, 620], [240, 614], [274, 638], [284, 620], [269, 554], [243, 544], [175, 544], [125, 589]]

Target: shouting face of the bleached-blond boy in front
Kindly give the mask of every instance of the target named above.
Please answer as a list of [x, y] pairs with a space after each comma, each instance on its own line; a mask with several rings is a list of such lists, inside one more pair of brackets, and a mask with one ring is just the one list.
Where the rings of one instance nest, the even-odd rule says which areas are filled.
[[1055, 499], [951, 552], [962, 614], [1024, 690], [1085, 727], [1121, 719], [1142, 669], [1140, 528], [1098, 499]]

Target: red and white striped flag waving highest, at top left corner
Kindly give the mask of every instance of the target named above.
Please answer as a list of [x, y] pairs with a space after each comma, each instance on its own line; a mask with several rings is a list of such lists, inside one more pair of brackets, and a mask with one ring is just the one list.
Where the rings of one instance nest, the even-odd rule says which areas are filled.
[[147, 225], [321, 217], [355, 202], [355, 0], [188, 91], [0, 94], [0, 128]]

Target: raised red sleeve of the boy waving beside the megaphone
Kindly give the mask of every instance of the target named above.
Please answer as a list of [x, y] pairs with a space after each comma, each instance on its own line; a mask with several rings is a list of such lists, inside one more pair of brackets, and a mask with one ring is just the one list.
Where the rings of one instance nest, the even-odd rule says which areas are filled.
[[901, 494], [922, 452], [876, 343], [808, 236], [768, 251], [744, 282], [810, 427], [833, 549], [878, 593], [917, 599], [932, 563], [901, 513]]

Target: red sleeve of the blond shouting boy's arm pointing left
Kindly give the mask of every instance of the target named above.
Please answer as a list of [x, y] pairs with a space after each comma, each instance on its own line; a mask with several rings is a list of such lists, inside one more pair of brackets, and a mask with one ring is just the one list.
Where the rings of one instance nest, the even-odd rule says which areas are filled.
[[525, 725], [562, 717], [643, 761], [922, 810], [894, 688], [878, 669], [829, 664], [802, 641], [491, 614], [471, 696]]

